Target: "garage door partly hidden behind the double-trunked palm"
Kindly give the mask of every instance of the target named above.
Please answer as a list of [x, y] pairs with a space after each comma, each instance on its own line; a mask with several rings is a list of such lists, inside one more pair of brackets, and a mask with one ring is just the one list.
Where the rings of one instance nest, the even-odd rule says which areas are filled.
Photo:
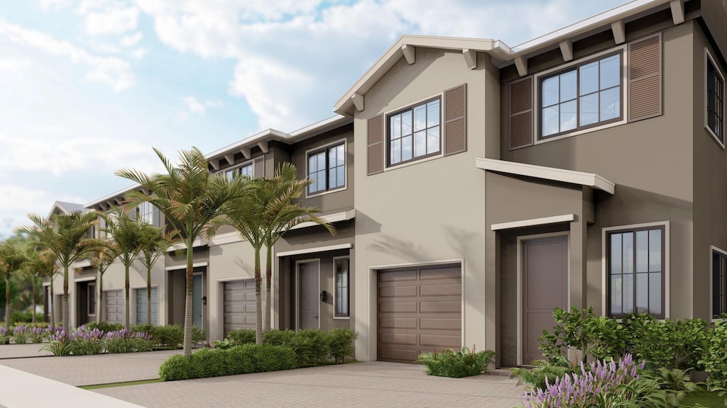
[[255, 280], [225, 282], [225, 336], [230, 330], [255, 328]]

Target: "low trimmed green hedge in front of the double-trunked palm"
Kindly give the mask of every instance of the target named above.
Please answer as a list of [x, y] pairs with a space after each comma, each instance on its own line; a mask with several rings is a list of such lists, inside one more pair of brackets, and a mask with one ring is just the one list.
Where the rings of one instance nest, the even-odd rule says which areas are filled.
[[162, 381], [189, 380], [296, 367], [295, 353], [289, 347], [247, 344], [228, 349], [203, 348], [189, 357], [170, 356], [159, 367], [159, 378]]

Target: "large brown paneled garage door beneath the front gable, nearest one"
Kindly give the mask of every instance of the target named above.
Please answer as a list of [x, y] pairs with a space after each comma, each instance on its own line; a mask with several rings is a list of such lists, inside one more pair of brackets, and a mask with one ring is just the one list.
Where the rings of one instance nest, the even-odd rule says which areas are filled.
[[414, 362], [462, 346], [459, 265], [379, 271], [378, 359]]

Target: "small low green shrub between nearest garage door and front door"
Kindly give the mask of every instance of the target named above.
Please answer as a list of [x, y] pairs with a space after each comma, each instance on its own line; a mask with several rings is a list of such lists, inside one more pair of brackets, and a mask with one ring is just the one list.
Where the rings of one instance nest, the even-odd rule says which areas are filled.
[[462, 378], [470, 375], [482, 374], [483, 370], [492, 362], [494, 351], [470, 351], [462, 347], [462, 351], [451, 349], [441, 353], [419, 354], [417, 363], [424, 364], [427, 368], [427, 375], [439, 377]]

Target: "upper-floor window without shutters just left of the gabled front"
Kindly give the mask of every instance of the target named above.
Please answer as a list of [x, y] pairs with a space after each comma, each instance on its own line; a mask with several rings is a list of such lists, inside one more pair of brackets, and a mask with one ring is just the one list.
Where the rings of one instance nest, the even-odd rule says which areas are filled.
[[346, 185], [345, 142], [308, 152], [308, 194]]

